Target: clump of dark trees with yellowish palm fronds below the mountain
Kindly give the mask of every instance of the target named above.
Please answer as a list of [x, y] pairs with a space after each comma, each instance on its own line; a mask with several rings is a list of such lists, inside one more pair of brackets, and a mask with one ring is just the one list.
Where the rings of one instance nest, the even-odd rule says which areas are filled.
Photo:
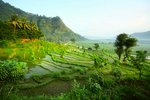
[[39, 39], [42, 32], [35, 23], [28, 22], [26, 17], [19, 18], [14, 14], [8, 21], [0, 21], [0, 39], [16, 40], [16, 39]]

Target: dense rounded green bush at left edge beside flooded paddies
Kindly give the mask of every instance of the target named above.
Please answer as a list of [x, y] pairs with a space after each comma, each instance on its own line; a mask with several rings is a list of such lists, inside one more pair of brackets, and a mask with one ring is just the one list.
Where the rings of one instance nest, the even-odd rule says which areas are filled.
[[25, 62], [16, 62], [14, 60], [6, 60], [0, 62], [0, 80], [1, 81], [16, 81], [24, 77], [27, 72]]

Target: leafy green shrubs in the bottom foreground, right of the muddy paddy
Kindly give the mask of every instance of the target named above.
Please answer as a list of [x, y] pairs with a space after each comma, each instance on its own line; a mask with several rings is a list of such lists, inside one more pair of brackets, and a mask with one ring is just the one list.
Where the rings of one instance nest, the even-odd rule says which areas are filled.
[[85, 85], [81, 85], [75, 81], [72, 91], [66, 96], [71, 100], [109, 100], [110, 98], [119, 98], [117, 97], [118, 91], [107, 90], [107, 88], [110, 88], [110, 86], [112, 88], [115, 84], [112, 81], [108, 82], [104, 82], [102, 74], [93, 73]]

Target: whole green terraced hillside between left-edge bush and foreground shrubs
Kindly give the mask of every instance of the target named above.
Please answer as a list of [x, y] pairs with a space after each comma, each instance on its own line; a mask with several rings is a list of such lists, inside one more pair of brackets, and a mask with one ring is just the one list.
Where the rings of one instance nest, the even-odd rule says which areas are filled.
[[[145, 62], [142, 68], [142, 80], [139, 80], [139, 70], [132, 63], [119, 62], [117, 55], [107, 49], [85, 49], [84, 52], [78, 46], [67, 45], [66, 47], [64, 44], [43, 41], [30, 43], [29, 46], [32, 47], [32, 45], [33, 48], [26, 49], [17, 45], [10, 47], [9, 54], [12, 58], [26, 62], [26, 67], [29, 69], [25, 74], [25, 79], [19, 80], [15, 85], [19, 90], [17, 92], [19, 96], [56, 96], [61, 93], [70, 93], [74, 80], [85, 86], [93, 75], [102, 77], [104, 81], [102, 88], [106, 88], [106, 93], [110, 89], [118, 89], [118, 87], [122, 89], [122, 86], [125, 86], [125, 89], [126, 86], [132, 89], [133, 84], [141, 89], [142, 95], [148, 91], [147, 87], [144, 87], [143, 92], [143, 86], [146, 86], [149, 80], [149, 60]], [[17, 51], [13, 51], [12, 48], [17, 48]], [[7, 48], [3, 48], [3, 51], [7, 51]], [[7, 55], [5, 53], [0, 56], [9, 58]], [[118, 73], [119, 77], [116, 76]], [[131, 86], [126, 85], [130, 83]], [[134, 93], [136, 92], [131, 94], [137, 95]], [[128, 93], [125, 95], [127, 96]]]

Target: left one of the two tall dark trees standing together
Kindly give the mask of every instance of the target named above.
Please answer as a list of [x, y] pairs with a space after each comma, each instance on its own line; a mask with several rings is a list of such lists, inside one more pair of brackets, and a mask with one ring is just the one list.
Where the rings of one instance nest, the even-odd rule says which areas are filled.
[[116, 47], [115, 52], [118, 55], [119, 60], [121, 59], [121, 56], [124, 52], [124, 43], [127, 38], [128, 35], [126, 33], [119, 34], [116, 38], [114, 46]]

